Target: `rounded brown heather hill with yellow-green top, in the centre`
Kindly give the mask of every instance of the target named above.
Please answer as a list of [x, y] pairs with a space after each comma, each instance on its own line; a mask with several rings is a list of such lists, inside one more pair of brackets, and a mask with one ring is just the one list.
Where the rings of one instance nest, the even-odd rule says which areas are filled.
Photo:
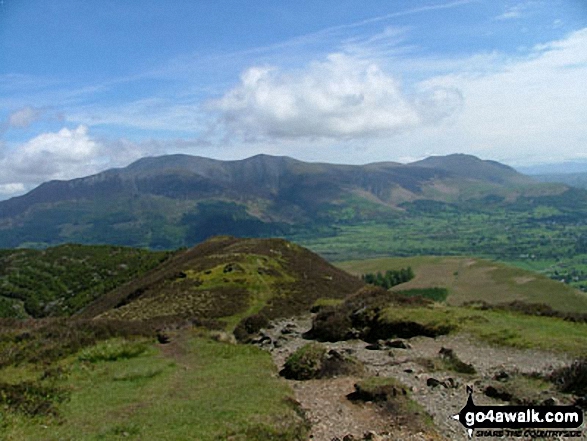
[[285, 240], [215, 237], [100, 297], [80, 317], [185, 317], [232, 329], [251, 315], [295, 315], [319, 297], [343, 298], [361, 286]]

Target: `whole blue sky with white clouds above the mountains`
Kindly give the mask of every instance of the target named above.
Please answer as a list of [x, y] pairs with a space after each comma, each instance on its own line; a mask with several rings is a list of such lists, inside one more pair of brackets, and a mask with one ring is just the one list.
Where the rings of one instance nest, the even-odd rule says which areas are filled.
[[0, 199], [171, 153], [587, 161], [587, 0], [0, 0]]

